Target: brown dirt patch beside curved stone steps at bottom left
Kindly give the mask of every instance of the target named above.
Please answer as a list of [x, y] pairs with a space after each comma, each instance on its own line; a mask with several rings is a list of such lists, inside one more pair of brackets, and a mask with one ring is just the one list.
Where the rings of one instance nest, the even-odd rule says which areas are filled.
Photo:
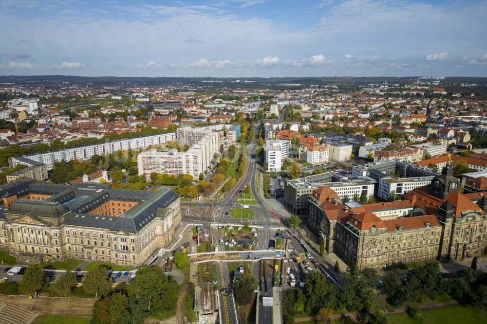
[[44, 297], [29, 299], [28, 296], [0, 295], [0, 302], [19, 306], [42, 315], [91, 316], [95, 298]]

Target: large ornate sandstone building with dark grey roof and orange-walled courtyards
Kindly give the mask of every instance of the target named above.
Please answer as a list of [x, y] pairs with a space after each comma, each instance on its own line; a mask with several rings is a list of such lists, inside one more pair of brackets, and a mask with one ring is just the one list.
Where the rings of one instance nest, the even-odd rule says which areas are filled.
[[23, 260], [141, 265], [172, 240], [181, 223], [180, 198], [170, 189], [22, 179], [0, 186], [0, 197], [0, 248]]

